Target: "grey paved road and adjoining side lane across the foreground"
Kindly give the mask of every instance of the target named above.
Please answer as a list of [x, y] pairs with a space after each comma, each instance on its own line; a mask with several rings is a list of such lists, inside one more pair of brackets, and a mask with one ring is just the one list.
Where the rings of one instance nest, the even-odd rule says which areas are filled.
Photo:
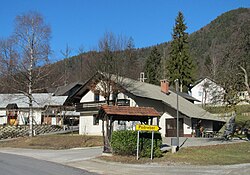
[[[248, 154], [249, 151], [246, 153]], [[7, 154], [11, 154], [8, 155], [8, 159], [4, 158], [4, 156], [6, 156]], [[196, 166], [196, 165], [183, 165], [183, 164], [179, 165], [175, 164], [174, 162], [169, 162], [167, 164], [165, 163], [122, 164], [117, 162], [101, 161], [100, 159], [95, 158], [100, 156], [101, 154], [102, 154], [101, 147], [85, 148], [85, 149], [69, 149], [69, 150], [32, 150], [32, 149], [19, 149], [19, 148], [1, 148], [0, 175], [10, 175], [10, 174], [11, 175], [16, 175], [16, 174], [74, 175], [74, 173], [89, 175], [91, 174], [90, 172], [95, 172], [103, 175], [138, 175], [138, 174], [249, 175], [250, 174], [250, 163], [239, 164], [239, 165], [225, 165], [225, 166], [219, 166], [219, 165]], [[27, 157], [22, 157], [22, 156], [27, 156]], [[37, 159], [45, 161], [44, 163], [37, 163], [38, 161]], [[49, 163], [47, 161], [54, 163]], [[59, 165], [58, 163], [62, 165]], [[82, 170], [70, 168], [69, 166], [79, 168]], [[13, 170], [12, 167], [14, 167]], [[68, 172], [70, 170], [64, 170], [64, 168], [73, 169], [73, 172]], [[51, 173], [54, 169], [55, 172]], [[30, 172], [27, 173], [27, 170], [29, 170]], [[62, 170], [62, 172], [59, 172], [60, 170]]]

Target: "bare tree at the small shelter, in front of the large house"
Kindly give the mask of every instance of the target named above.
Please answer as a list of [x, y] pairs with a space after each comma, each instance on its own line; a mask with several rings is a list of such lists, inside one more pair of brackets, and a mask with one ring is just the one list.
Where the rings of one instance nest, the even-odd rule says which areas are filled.
[[[104, 98], [108, 105], [111, 103], [111, 95], [116, 97], [119, 92], [122, 92], [122, 87], [125, 86], [124, 76], [129, 72], [126, 59], [132, 59], [132, 41], [121, 35], [114, 35], [113, 33], [105, 33], [103, 38], [99, 41], [98, 52], [99, 59], [90, 60], [90, 70], [99, 72], [100, 76], [96, 82], [92, 83], [93, 90], [97, 90]], [[127, 56], [128, 55], [128, 56]], [[100, 78], [101, 77], [101, 78]], [[98, 84], [98, 86], [97, 86]], [[115, 105], [116, 99], [112, 99]], [[106, 129], [104, 129], [104, 122], [106, 122]], [[108, 117], [103, 119], [103, 138], [104, 138], [104, 152], [110, 152], [110, 138], [112, 132], [112, 122]]]

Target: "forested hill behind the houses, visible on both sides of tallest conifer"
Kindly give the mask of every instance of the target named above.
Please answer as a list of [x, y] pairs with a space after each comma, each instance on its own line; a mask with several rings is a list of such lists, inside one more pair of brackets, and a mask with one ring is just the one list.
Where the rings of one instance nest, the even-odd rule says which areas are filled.
[[[216, 79], [218, 74], [221, 73], [220, 69], [227, 69], [225, 66], [237, 65], [242, 60], [244, 60], [245, 64], [249, 63], [250, 9], [239, 8], [220, 15], [210, 24], [190, 34], [189, 44], [191, 56], [197, 63], [197, 79], [203, 76]], [[165, 57], [166, 60], [168, 59], [169, 46], [170, 42], [157, 45], [162, 57]], [[141, 65], [137, 68], [138, 77], [139, 72], [143, 71], [143, 65], [150, 54], [151, 48], [135, 50], [134, 55], [139, 59]], [[85, 81], [89, 77], [88, 60], [99, 56], [97, 52], [88, 52], [71, 57], [66, 61], [59, 61], [52, 65], [56, 71], [51, 80], [53, 78], [58, 80], [58, 77], [62, 77], [66, 73], [68, 83], [79, 79]], [[65, 65], [67, 65], [67, 70], [63, 71]], [[249, 71], [249, 66], [246, 68]]]

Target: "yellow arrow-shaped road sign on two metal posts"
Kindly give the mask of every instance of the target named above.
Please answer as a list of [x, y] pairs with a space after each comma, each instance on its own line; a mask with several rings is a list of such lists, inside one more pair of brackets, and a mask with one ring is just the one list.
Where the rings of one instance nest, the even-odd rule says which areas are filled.
[[137, 133], [137, 154], [136, 158], [139, 159], [139, 141], [140, 141], [140, 131], [152, 131], [152, 140], [151, 140], [151, 160], [153, 160], [153, 150], [154, 150], [154, 132], [159, 131], [161, 128], [157, 125], [139, 125], [135, 126]]

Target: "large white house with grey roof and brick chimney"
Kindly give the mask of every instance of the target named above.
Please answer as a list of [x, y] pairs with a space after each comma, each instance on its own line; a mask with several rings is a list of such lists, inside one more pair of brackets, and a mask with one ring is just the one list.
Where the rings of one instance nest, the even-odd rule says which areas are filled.
[[[79, 134], [102, 135], [102, 121], [98, 120], [97, 114], [100, 106], [105, 104], [105, 99], [98, 93], [98, 88], [90, 89], [90, 84], [93, 82], [91, 79], [75, 94], [75, 97], [81, 97], [81, 101], [79, 101], [81, 103], [76, 106], [76, 110], [80, 112]], [[98, 84], [96, 87], [98, 87]], [[110, 99], [117, 97], [115, 99], [118, 105], [153, 107], [156, 109], [161, 117], [159, 121], [154, 121], [153, 124], [159, 124], [162, 128], [160, 130], [162, 136], [176, 136], [177, 110], [180, 118], [180, 136], [191, 136], [192, 133], [199, 132], [200, 126], [204, 127], [206, 131], [218, 131], [225, 122], [223, 118], [210, 114], [170, 91], [167, 81], [162, 81], [161, 86], [156, 86], [123, 78], [122, 88], [123, 90], [118, 95], [111, 94]], [[124, 123], [120, 121], [114, 124], [114, 130], [134, 129], [134, 124], [133, 122]]]

